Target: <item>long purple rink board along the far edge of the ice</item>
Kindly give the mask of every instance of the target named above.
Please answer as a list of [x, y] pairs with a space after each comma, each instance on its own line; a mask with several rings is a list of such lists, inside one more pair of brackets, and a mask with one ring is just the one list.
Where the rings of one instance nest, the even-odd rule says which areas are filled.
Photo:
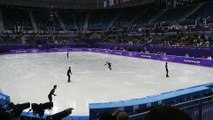
[[97, 52], [104, 54], [113, 54], [121, 55], [127, 57], [136, 57], [143, 59], [152, 59], [168, 62], [177, 62], [183, 64], [192, 64], [198, 66], [213, 67], [213, 60], [208, 60], [204, 58], [192, 58], [192, 57], [183, 57], [175, 55], [162, 55], [162, 54], [152, 54], [152, 53], [139, 53], [139, 52], [127, 52], [127, 51], [118, 51], [118, 50], [105, 50], [105, 49], [96, 49], [96, 48], [69, 48], [69, 49], [50, 49], [50, 50], [39, 50], [39, 49], [28, 49], [28, 50], [11, 50], [7, 54], [20, 54], [20, 53], [43, 53], [43, 52]]

